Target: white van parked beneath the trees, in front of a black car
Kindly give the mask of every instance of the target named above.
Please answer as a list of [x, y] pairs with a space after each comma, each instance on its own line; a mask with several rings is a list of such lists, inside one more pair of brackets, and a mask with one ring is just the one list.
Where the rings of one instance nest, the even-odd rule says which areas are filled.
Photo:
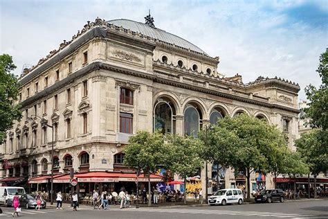
[[240, 189], [221, 189], [208, 197], [208, 204], [243, 204], [244, 196]]

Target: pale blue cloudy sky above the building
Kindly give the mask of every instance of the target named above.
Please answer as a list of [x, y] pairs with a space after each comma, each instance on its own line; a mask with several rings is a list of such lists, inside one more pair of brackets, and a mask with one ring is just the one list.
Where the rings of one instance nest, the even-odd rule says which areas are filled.
[[33, 1], [0, 0], [0, 53], [13, 56], [19, 74], [36, 64], [86, 21], [144, 21], [179, 35], [209, 55], [218, 71], [244, 82], [278, 76], [304, 87], [320, 85], [316, 69], [328, 46], [328, 0], [322, 1]]

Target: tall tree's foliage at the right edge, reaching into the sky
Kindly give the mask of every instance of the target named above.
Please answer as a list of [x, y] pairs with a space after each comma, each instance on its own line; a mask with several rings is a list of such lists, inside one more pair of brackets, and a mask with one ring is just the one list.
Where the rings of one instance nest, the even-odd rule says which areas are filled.
[[313, 85], [307, 86], [305, 93], [309, 100], [309, 108], [304, 109], [307, 116], [311, 118], [312, 128], [328, 128], [328, 49], [320, 55], [319, 67], [316, 70], [322, 80], [322, 85], [317, 89]]

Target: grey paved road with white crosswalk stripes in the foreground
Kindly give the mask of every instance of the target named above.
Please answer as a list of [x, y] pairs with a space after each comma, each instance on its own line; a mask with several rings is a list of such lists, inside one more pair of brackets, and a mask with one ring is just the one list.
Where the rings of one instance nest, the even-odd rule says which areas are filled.
[[[11, 218], [12, 208], [3, 207], [0, 218]], [[196, 219], [196, 218], [328, 218], [328, 200], [304, 200], [296, 202], [284, 202], [273, 204], [243, 204], [230, 206], [203, 206], [203, 207], [154, 207], [139, 209], [118, 209], [112, 207], [107, 211], [93, 210], [89, 207], [80, 207], [77, 212], [73, 212], [69, 207], [64, 210], [54, 208], [42, 209], [22, 209], [20, 218], [118, 218], [118, 219]]]

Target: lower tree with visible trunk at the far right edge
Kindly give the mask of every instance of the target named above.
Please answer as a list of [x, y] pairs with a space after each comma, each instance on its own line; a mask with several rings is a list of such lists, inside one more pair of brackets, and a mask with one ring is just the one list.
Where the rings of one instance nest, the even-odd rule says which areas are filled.
[[311, 130], [295, 141], [297, 151], [304, 158], [314, 177], [314, 197], [316, 198], [316, 177], [328, 169], [328, 131]]

